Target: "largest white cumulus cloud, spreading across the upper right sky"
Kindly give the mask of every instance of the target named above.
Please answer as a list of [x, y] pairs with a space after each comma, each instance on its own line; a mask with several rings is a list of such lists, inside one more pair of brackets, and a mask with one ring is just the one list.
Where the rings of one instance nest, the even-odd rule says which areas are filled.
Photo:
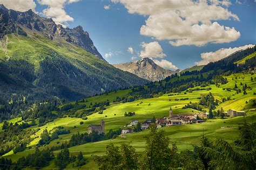
[[234, 19], [230, 1], [154, 1], [111, 0], [122, 3], [129, 13], [148, 16], [140, 34], [158, 40], [169, 40], [173, 46], [204, 46], [208, 42], [224, 43], [237, 40], [240, 32], [234, 27], [220, 25], [218, 20]]

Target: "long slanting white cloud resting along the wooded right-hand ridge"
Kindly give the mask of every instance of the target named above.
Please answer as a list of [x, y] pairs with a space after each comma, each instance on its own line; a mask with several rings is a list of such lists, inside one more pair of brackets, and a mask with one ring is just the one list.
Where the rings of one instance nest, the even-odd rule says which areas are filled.
[[209, 62], [214, 62], [214, 61], [218, 61], [220, 59], [225, 58], [226, 56], [242, 50], [242, 49], [246, 49], [249, 47], [253, 47], [254, 45], [245, 45], [245, 46], [241, 46], [241, 47], [234, 47], [234, 48], [220, 48], [219, 50], [215, 51], [215, 52], [207, 52], [207, 53], [201, 53], [201, 61], [195, 62], [196, 65], [206, 65]]

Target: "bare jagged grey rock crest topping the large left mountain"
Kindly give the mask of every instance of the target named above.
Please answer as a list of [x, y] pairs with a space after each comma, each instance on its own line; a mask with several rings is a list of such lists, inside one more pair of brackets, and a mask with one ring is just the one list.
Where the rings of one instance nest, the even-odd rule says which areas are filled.
[[73, 29], [64, 28], [62, 25], [55, 24], [51, 18], [40, 17], [32, 10], [18, 12], [8, 10], [4, 5], [0, 4], [0, 38], [3, 38], [9, 33], [27, 36], [22, 27], [39, 31], [49, 39], [64, 39], [73, 45], [84, 48], [87, 52], [98, 56], [99, 59], [104, 60], [102, 55], [97, 51], [97, 48], [93, 45], [89, 33], [84, 31], [82, 26], [77, 26]]

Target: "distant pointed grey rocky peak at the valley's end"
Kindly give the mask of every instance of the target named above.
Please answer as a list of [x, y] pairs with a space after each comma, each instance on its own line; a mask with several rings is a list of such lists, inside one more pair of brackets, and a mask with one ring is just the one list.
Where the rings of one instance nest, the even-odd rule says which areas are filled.
[[143, 58], [135, 62], [120, 63], [113, 66], [150, 81], [163, 80], [165, 77], [176, 73], [174, 71], [161, 68], [150, 58]]

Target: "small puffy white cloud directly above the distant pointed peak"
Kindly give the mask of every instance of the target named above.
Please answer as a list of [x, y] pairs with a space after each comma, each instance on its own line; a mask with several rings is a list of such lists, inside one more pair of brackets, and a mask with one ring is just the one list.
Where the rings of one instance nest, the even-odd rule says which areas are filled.
[[163, 53], [163, 48], [157, 41], [149, 43], [142, 42], [140, 46], [144, 48], [143, 51], [140, 51], [139, 54], [139, 56], [142, 58], [164, 58], [166, 56], [166, 54]]

